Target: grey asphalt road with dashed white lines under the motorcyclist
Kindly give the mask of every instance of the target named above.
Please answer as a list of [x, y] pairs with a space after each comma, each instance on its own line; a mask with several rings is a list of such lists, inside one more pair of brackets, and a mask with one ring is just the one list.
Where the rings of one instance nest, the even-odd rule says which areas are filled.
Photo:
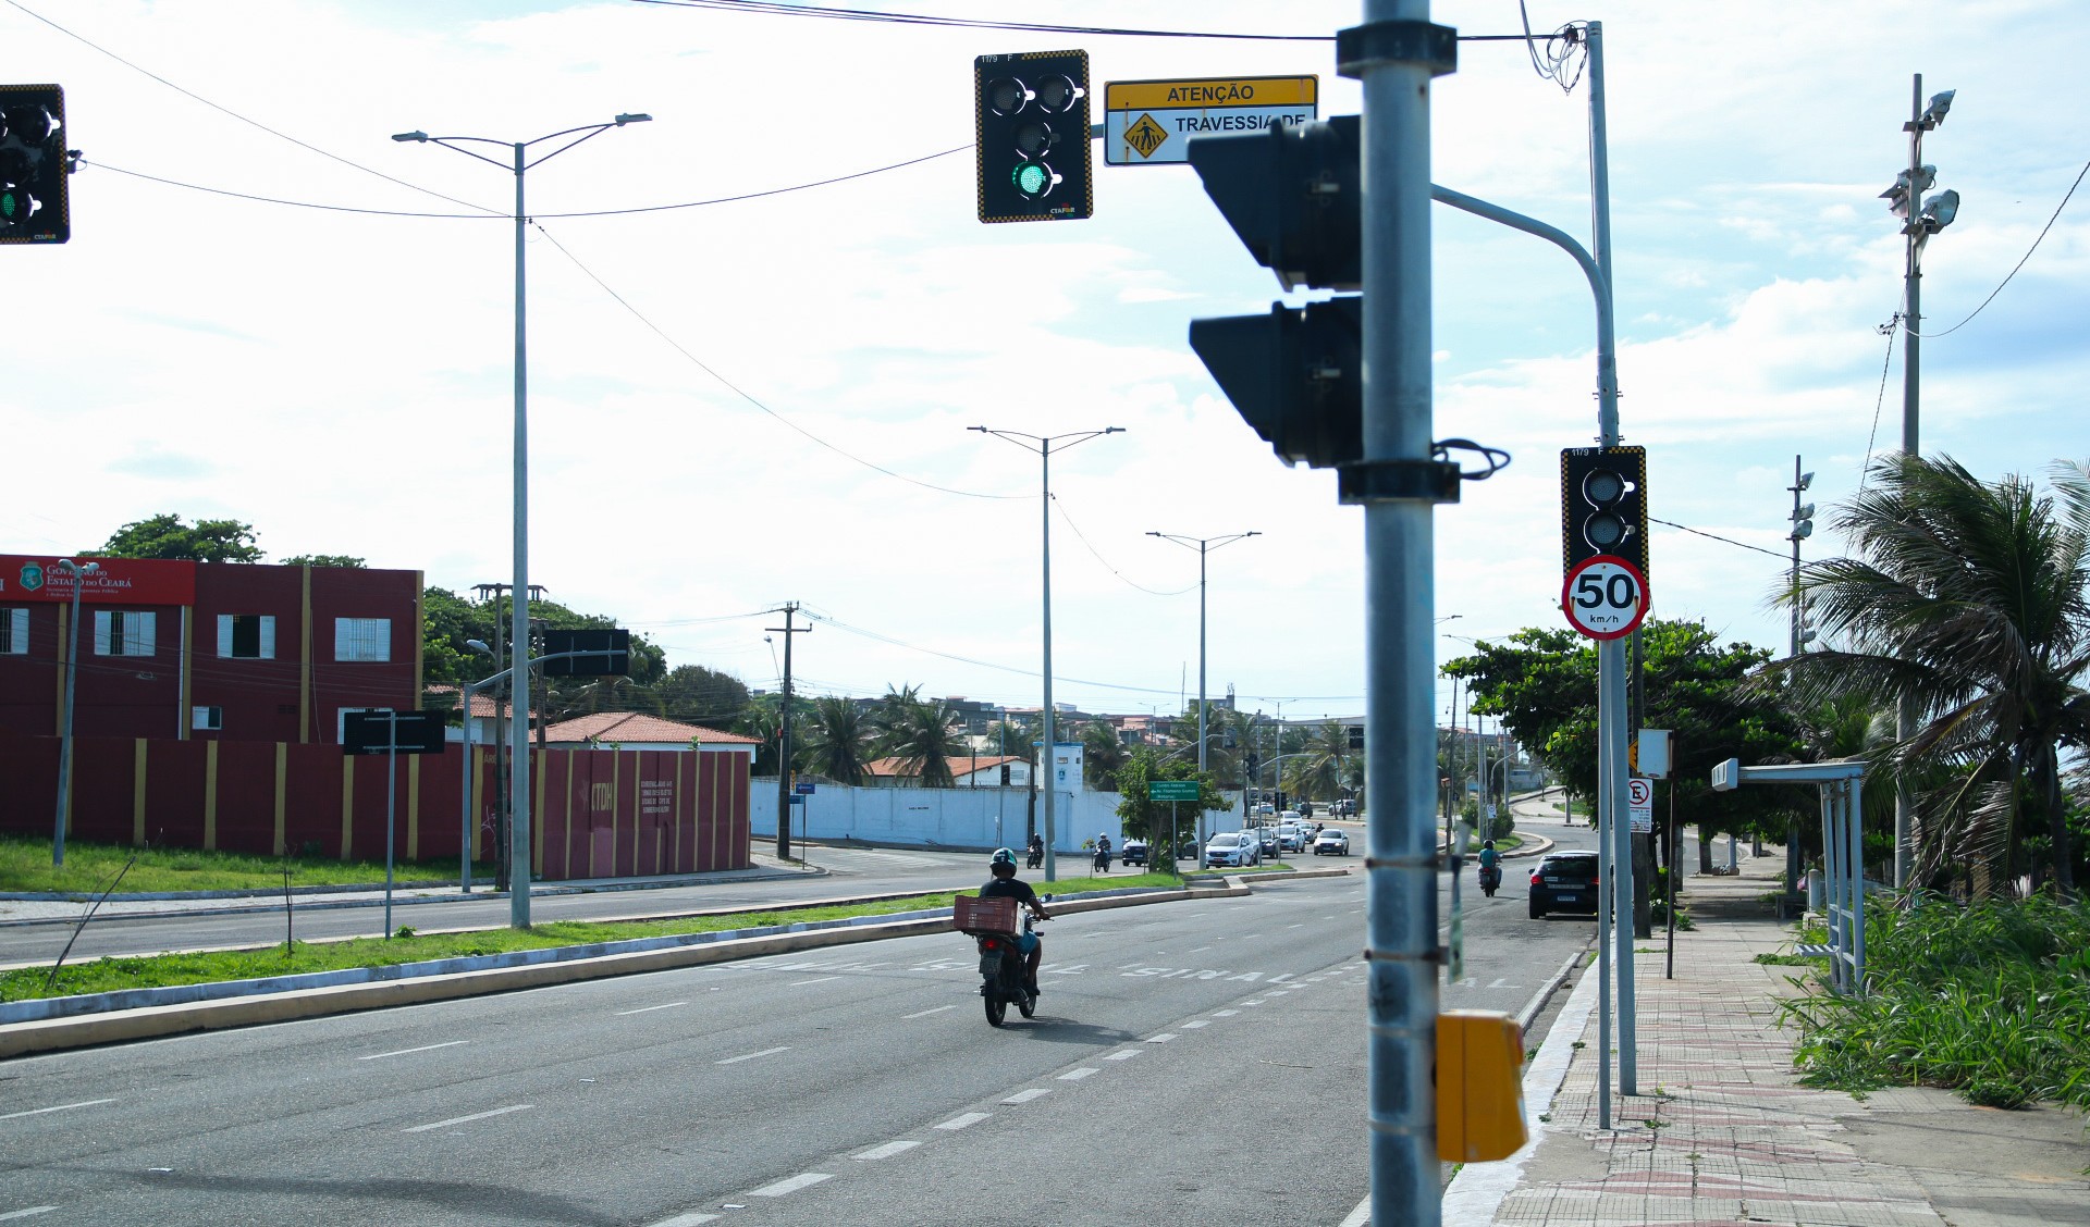
[[[1446, 1008], [1517, 1010], [1590, 937], [1507, 879], [1467, 893]], [[1068, 916], [1005, 1029], [936, 935], [21, 1058], [0, 1217], [1340, 1223], [1367, 1189], [1363, 908], [1348, 876]]]

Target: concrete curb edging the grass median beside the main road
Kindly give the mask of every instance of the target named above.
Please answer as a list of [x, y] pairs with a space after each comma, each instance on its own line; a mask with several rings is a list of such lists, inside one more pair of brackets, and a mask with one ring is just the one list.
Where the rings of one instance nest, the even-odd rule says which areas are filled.
[[[1131, 887], [1127, 891], [1133, 891]], [[1053, 904], [1055, 912], [1101, 912], [1110, 908], [1135, 908], [1145, 904], [1177, 904], [1183, 899], [1237, 897], [1248, 895], [1246, 885], [1202, 887], [1181, 891], [1152, 891], [1124, 895], [1083, 895]], [[771, 954], [798, 949], [819, 949], [828, 945], [855, 945], [859, 941], [884, 941], [888, 937], [918, 937], [928, 933], [951, 933], [951, 910], [936, 908], [903, 920], [882, 920], [874, 924], [821, 922], [823, 929], [800, 929], [792, 933], [763, 933], [729, 937], [717, 935], [711, 941], [660, 947], [663, 939], [642, 937], [633, 943], [604, 943], [602, 954], [543, 958], [520, 966], [479, 966], [470, 970], [426, 970], [414, 972], [416, 964], [382, 968], [389, 979], [364, 983], [328, 983], [318, 987], [270, 989], [247, 987], [240, 995], [213, 1000], [190, 1000], [173, 1004], [138, 1004], [111, 1008], [94, 1014], [71, 1014], [59, 1018], [33, 1018], [0, 1025], [0, 1058], [25, 1056], [33, 1052], [56, 1052], [67, 1048], [90, 1048], [98, 1043], [123, 1043], [132, 1039], [157, 1039], [190, 1031], [219, 1031], [228, 1027], [255, 1027], [261, 1022], [291, 1022], [299, 1018], [320, 1018], [326, 1014], [349, 1014], [357, 1010], [387, 1010], [393, 1006], [418, 1006], [424, 1002], [449, 1002], [485, 993], [510, 993], [545, 985], [594, 981], [623, 975], [644, 975], [704, 966], [715, 962], [738, 962]], [[648, 949], [631, 949], [635, 943], [652, 943]], [[562, 947], [573, 949], [573, 947]], [[581, 947], [589, 949], [589, 947]], [[514, 956], [485, 956], [487, 960], [512, 960]], [[460, 960], [437, 960], [422, 966], [451, 966]], [[370, 970], [370, 968], [364, 968]], [[339, 975], [339, 972], [318, 972]], [[236, 981], [236, 985], [280, 985], [280, 981]], [[188, 993], [205, 987], [228, 985], [182, 985], [180, 989], [136, 989], [136, 993]], [[132, 993], [94, 993], [96, 997]], [[65, 997], [56, 997], [65, 1000]], [[84, 997], [75, 997], [84, 1000]]]

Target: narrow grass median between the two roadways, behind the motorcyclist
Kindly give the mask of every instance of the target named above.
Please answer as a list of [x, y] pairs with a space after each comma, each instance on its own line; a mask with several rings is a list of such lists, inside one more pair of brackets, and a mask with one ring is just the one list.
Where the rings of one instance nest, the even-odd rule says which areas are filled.
[[[1047, 883], [1030, 883], [1047, 887]], [[1053, 895], [1108, 891], [1124, 887], [1181, 887], [1170, 874], [1116, 874], [1099, 879], [1060, 879], [1049, 885]], [[968, 891], [970, 893], [970, 891]], [[1041, 891], [1043, 893], [1043, 891]], [[293, 941], [253, 949], [217, 949], [190, 954], [155, 954], [134, 958], [98, 958], [59, 968], [48, 966], [0, 972], [0, 1002], [36, 997], [69, 997], [75, 993], [111, 993], [119, 989], [163, 989], [173, 985], [207, 985], [251, 981], [263, 977], [326, 972], [364, 966], [395, 966], [439, 958], [470, 958], [518, 949], [558, 945], [594, 945], [635, 937], [675, 937], [688, 933], [725, 933], [732, 929], [763, 929], [849, 916], [886, 916], [920, 908], [949, 908], [953, 891], [932, 891], [869, 904], [828, 908], [759, 908], [746, 912], [711, 912], [702, 916], [669, 916], [660, 920], [548, 920], [531, 929], [477, 929], [470, 933], [414, 933], [401, 929], [391, 939], [353, 937], [345, 941]]]

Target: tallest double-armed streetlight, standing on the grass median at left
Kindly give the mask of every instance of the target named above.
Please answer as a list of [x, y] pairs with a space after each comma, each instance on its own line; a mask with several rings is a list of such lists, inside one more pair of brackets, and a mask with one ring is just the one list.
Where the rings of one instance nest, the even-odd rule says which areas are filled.
[[[522, 213], [522, 175], [545, 163], [568, 148], [581, 144], [583, 140], [608, 131], [612, 127], [623, 127], [627, 123], [646, 123], [652, 115], [619, 115], [608, 123], [587, 123], [581, 127], [568, 127], [564, 131], [552, 131], [539, 136], [537, 140], [491, 140], [485, 136], [428, 136], [426, 131], [399, 131], [393, 140], [412, 140], [422, 144], [439, 144], [462, 152], [464, 157], [479, 159], [487, 165], [502, 167], [504, 171], [514, 171], [516, 177], [516, 442], [514, 442], [514, 553], [516, 553], [516, 582], [514, 582], [514, 603], [508, 607], [512, 616], [512, 641], [516, 645], [516, 668], [512, 676], [529, 678], [529, 353], [525, 344], [525, 298], [522, 298], [522, 225], [527, 221]], [[579, 136], [573, 136], [579, 134]], [[548, 140], [558, 140], [562, 136], [573, 136], [566, 144], [554, 148], [552, 152], [531, 159], [529, 148], [533, 144], [543, 144]], [[500, 163], [483, 152], [464, 148], [458, 142], [472, 144], [497, 144], [514, 152], [512, 163]], [[525, 691], [522, 703], [510, 705], [514, 757], [510, 760], [510, 799], [512, 810], [508, 816], [508, 924], [514, 929], [529, 929], [529, 701]]]

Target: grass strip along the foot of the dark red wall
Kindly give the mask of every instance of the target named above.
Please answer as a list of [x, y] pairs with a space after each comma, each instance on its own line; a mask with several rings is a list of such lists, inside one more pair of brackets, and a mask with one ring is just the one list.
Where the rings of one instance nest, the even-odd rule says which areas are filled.
[[[138, 862], [123, 866], [138, 856]], [[65, 868], [50, 868], [50, 839], [0, 835], [0, 891], [100, 895], [117, 874], [119, 895], [163, 891], [280, 891], [284, 868], [293, 887], [368, 887], [385, 883], [385, 862], [334, 860], [328, 856], [245, 856], [194, 847], [121, 847], [115, 843], [65, 841]], [[456, 883], [458, 862], [393, 862], [393, 883]], [[472, 866], [474, 883], [493, 881], [493, 864]]]

